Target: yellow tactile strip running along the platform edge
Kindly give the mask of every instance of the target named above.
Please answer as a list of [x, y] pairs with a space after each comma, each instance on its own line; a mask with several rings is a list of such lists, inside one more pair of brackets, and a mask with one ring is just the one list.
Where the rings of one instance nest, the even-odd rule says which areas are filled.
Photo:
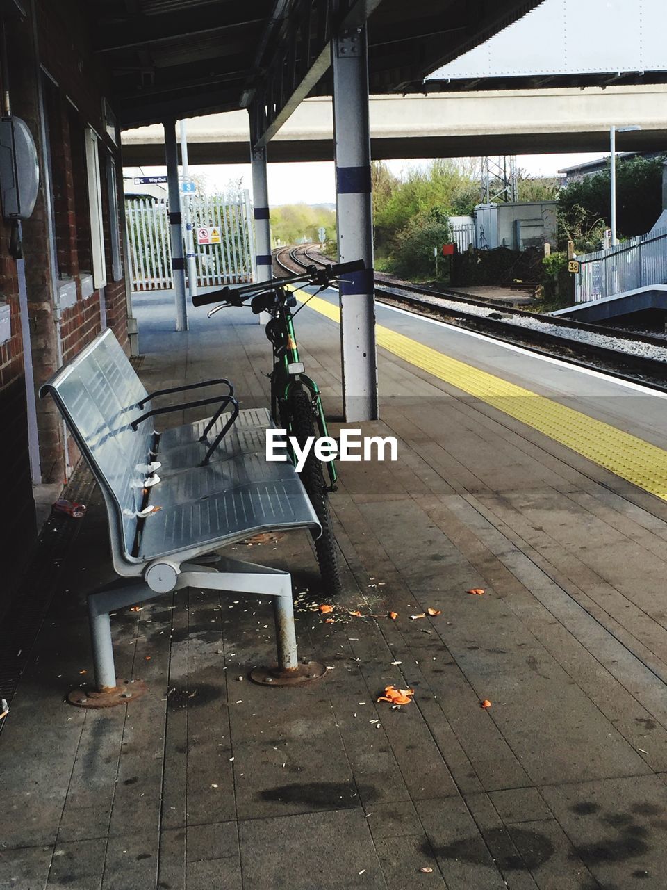
[[[309, 299], [310, 309], [340, 324], [338, 306], [321, 297], [310, 297], [306, 291], [296, 291], [296, 296], [301, 303]], [[664, 449], [502, 377], [452, 359], [390, 328], [376, 325], [375, 333], [378, 346], [399, 359], [533, 427], [638, 488], [667, 500], [667, 451]]]

